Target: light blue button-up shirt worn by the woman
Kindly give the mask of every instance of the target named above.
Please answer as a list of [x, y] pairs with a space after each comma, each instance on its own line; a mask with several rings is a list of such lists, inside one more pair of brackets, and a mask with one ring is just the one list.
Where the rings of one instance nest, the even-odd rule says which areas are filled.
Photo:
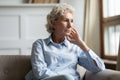
[[32, 71], [26, 76], [26, 79], [29, 80], [30, 78], [38, 80], [63, 74], [79, 80], [77, 64], [95, 73], [105, 69], [103, 61], [92, 50], [85, 52], [66, 38], [60, 44], [56, 44], [52, 41], [51, 36], [46, 39], [38, 39], [33, 43], [31, 62]]

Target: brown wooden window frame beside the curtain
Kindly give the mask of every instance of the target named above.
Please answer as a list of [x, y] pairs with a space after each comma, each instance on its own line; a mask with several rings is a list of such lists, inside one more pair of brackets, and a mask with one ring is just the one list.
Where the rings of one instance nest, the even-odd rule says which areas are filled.
[[104, 28], [110, 27], [113, 25], [120, 24], [120, 15], [112, 16], [112, 17], [103, 17], [103, 0], [99, 0], [100, 2], [100, 39], [101, 39], [101, 57], [103, 59], [109, 59], [109, 60], [117, 60], [117, 56], [109, 56], [105, 55], [105, 42], [104, 42]]

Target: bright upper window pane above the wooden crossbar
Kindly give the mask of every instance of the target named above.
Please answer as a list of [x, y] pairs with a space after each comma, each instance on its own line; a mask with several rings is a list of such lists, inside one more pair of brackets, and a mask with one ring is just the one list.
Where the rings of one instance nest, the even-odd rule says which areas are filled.
[[120, 15], [120, 0], [103, 0], [103, 17]]

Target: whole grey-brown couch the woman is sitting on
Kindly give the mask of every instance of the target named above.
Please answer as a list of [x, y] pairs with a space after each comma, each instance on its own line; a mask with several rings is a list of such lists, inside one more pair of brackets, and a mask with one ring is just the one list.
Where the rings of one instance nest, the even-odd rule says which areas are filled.
[[[25, 80], [30, 69], [30, 56], [0, 55], [0, 80]], [[93, 74], [81, 66], [78, 66], [78, 71], [84, 80], [120, 80], [119, 71], [106, 69]]]

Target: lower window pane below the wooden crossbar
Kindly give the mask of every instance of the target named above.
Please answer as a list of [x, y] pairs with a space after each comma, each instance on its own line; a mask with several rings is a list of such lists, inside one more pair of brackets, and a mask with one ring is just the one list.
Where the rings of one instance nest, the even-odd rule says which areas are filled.
[[105, 55], [116, 56], [120, 36], [120, 25], [105, 27]]

